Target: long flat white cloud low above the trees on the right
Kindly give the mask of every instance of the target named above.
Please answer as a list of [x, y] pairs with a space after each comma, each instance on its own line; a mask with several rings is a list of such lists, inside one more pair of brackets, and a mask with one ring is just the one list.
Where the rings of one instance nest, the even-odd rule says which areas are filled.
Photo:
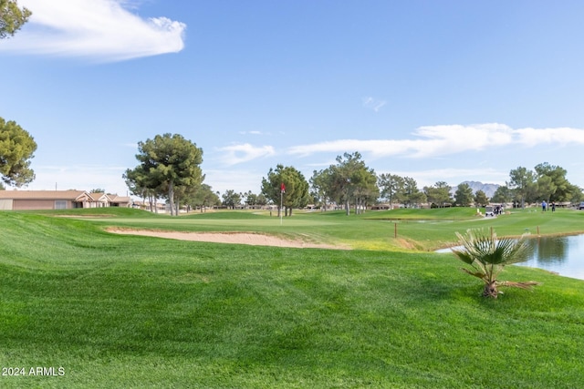
[[308, 156], [319, 152], [369, 152], [375, 157], [404, 156], [428, 158], [478, 151], [493, 146], [519, 144], [533, 147], [539, 144], [584, 144], [584, 129], [580, 128], [519, 128], [487, 123], [471, 126], [425, 126], [412, 132], [409, 139], [339, 139], [296, 146], [289, 154]]

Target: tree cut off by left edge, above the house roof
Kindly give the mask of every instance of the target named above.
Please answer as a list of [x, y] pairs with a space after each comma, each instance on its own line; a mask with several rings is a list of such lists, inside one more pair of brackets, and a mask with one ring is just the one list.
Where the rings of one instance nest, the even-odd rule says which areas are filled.
[[30, 169], [35, 151], [35, 139], [25, 129], [0, 118], [0, 175], [6, 184], [21, 187], [35, 179]]

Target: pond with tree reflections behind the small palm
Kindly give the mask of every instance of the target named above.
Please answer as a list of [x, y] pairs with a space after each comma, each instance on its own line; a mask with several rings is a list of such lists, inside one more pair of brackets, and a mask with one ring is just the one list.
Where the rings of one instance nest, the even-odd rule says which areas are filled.
[[[527, 240], [533, 246], [531, 259], [518, 266], [544, 269], [584, 280], [584, 235], [539, 237]], [[443, 249], [437, 252], [450, 252]]]

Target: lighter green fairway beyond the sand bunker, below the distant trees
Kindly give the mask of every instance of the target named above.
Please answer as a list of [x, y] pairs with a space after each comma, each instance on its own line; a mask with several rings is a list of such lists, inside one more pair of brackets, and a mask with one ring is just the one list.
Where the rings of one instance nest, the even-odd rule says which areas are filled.
[[[64, 214], [87, 216], [104, 210], [68, 210]], [[474, 208], [438, 210], [370, 211], [346, 216], [344, 211], [301, 212], [282, 222], [268, 211], [220, 211], [179, 218], [136, 210], [110, 210], [115, 218], [96, 218], [103, 225], [157, 230], [255, 231], [287, 239], [342, 243], [355, 249], [435, 251], [454, 245], [455, 232], [469, 228], [494, 229], [499, 236], [584, 233], [584, 212], [513, 210], [497, 218], [476, 217]], [[280, 224], [281, 222], [281, 224]]]

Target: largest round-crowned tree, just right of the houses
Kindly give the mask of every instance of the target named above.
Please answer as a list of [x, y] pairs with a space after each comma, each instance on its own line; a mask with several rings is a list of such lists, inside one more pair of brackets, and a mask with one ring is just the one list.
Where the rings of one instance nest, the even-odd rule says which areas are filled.
[[[144, 142], [138, 142], [136, 159], [140, 165], [134, 169], [141, 186], [147, 189], [164, 189], [174, 212], [175, 187], [197, 187], [203, 182], [203, 172], [199, 165], [203, 162], [203, 149], [179, 134], [157, 135]], [[126, 177], [128, 171], [126, 172]]]

